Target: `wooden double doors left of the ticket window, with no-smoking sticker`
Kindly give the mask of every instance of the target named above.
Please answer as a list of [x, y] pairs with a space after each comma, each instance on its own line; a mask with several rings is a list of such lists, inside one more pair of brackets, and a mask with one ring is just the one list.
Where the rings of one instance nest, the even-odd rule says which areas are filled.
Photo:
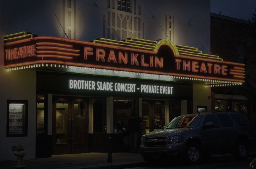
[[88, 98], [53, 97], [53, 154], [88, 152]]

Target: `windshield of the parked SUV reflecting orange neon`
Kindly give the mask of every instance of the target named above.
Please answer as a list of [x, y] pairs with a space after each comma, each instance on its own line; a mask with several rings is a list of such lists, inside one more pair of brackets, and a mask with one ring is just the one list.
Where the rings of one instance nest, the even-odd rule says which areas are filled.
[[174, 118], [165, 129], [169, 128], [180, 128], [180, 127], [198, 127], [200, 125], [202, 116], [194, 115], [194, 116], [179, 116]]

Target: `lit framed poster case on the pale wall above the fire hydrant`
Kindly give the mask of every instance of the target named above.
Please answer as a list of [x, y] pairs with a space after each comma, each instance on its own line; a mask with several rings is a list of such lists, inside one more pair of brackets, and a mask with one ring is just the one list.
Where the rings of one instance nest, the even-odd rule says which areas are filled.
[[27, 136], [27, 100], [7, 100], [6, 137]]

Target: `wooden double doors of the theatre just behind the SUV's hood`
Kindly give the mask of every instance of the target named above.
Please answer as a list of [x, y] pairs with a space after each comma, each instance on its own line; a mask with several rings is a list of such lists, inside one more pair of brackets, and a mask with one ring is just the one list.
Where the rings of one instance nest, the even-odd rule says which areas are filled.
[[162, 129], [164, 113], [164, 100], [142, 100], [142, 119], [147, 133]]

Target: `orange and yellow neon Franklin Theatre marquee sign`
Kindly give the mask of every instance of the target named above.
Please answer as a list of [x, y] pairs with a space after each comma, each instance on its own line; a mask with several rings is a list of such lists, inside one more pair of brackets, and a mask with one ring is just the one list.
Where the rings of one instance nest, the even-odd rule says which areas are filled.
[[225, 62], [197, 48], [162, 39], [84, 42], [57, 37], [34, 37], [21, 32], [5, 36], [6, 69], [69, 66], [243, 83], [244, 64]]

